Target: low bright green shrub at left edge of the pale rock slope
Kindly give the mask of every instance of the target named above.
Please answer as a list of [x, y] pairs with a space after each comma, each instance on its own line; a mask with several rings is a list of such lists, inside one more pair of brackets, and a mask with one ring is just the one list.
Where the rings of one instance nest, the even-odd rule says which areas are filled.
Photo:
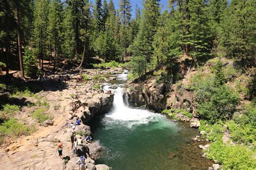
[[0, 134], [12, 138], [21, 137], [21, 135], [29, 135], [33, 132], [35, 132], [35, 128], [18, 123], [18, 120], [15, 118], [4, 121], [0, 126]]

